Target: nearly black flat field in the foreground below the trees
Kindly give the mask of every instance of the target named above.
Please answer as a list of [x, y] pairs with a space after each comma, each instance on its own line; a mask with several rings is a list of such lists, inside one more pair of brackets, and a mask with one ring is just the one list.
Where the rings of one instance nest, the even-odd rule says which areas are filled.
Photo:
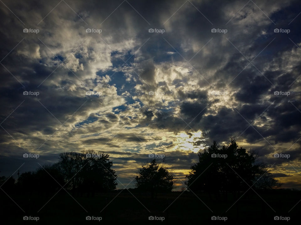
[[[78, 203], [64, 191], [51, 200], [54, 194], [10, 195], [23, 212], [2, 192], [1, 224], [300, 224], [301, 221], [301, 202], [296, 205], [301, 199], [299, 191], [257, 192], [259, 197], [249, 190], [252, 195], [244, 195], [234, 205], [236, 200], [230, 194], [227, 201], [217, 201], [210, 200], [206, 193], [197, 197], [191, 192], [172, 192], [158, 194], [155, 199], [151, 199], [150, 194], [132, 193], [135, 197], [128, 190], [97, 193], [94, 197], [84, 195], [75, 197]], [[39, 217], [39, 220], [24, 221], [24, 216]], [[86, 220], [87, 216], [102, 217], [102, 220]], [[150, 216], [164, 217], [164, 220], [149, 220]], [[212, 216], [227, 217], [227, 220], [214, 221]], [[290, 217], [290, 220], [277, 221], [275, 216]]]

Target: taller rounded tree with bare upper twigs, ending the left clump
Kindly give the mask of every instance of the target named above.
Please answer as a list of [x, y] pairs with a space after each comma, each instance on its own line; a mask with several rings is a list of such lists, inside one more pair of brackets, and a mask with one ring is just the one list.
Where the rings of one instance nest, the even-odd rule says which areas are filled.
[[73, 194], [87, 192], [87, 195], [91, 193], [92, 196], [96, 191], [116, 189], [117, 175], [108, 157], [108, 154], [96, 153], [91, 149], [82, 150], [81, 153], [61, 153], [57, 167], [65, 182], [69, 181], [66, 188], [72, 190]]

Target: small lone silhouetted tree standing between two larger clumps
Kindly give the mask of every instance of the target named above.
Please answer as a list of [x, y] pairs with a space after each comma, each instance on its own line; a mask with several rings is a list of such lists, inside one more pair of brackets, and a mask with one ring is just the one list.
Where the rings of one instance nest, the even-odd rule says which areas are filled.
[[153, 198], [158, 192], [171, 192], [175, 187], [174, 177], [164, 163], [158, 163], [153, 159], [138, 169], [135, 187], [140, 191], [150, 192]]

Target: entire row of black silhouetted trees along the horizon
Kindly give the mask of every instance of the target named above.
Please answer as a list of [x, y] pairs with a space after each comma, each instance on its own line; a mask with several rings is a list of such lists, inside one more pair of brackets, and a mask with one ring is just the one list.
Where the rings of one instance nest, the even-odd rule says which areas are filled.
[[[0, 177], [0, 185], [7, 192], [22, 191], [40, 194], [56, 193], [63, 188], [74, 196], [94, 196], [95, 192], [115, 190], [117, 175], [112, 169], [109, 155], [82, 150], [82, 152], [61, 153], [59, 161], [52, 165], [41, 165], [36, 171], [22, 173], [17, 182], [13, 177]], [[198, 152], [198, 162], [190, 167], [183, 190], [207, 192], [212, 198], [233, 193], [234, 196], [249, 187], [272, 189], [280, 187], [267, 165], [258, 161], [254, 151], [246, 151], [234, 139], [227, 146], [219, 148], [214, 143], [203, 152]], [[138, 169], [135, 191], [157, 193], [171, 192], [175, 186], [172, 169], [164, 160], [156, 159]]]

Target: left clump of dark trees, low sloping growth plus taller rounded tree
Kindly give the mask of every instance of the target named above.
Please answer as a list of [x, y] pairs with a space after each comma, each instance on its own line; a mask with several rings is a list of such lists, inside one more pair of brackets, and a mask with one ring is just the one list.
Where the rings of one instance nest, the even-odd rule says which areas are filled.
[[17, 186], [25, 192], [56, 192], [63, 186], [73, 194], [94, 195], [116, 189], [115, 170], [109, 155], [94, 150], [61, 153], [59, 162], [43, 165], [34, 172], [25, 172], [18, 178]]

